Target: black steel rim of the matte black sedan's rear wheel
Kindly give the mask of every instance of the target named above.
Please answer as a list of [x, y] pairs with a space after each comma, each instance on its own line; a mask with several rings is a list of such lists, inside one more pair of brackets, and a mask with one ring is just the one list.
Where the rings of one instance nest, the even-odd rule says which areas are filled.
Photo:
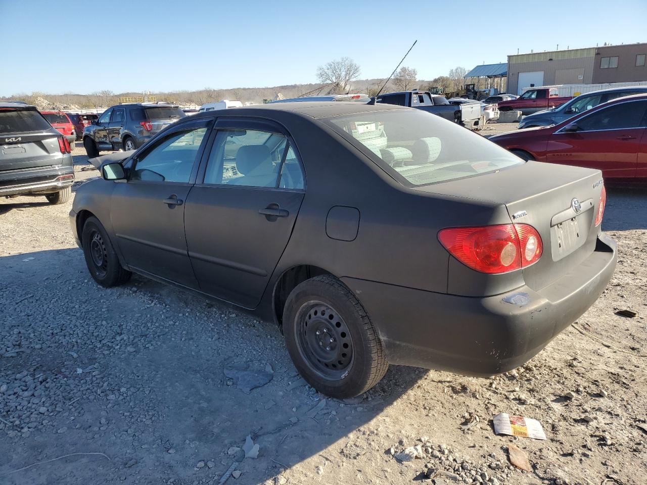
[[339, 312], [312, 301], [302, 305], [294, 323], [297, 347], [311, 371], [327, 380], [344, 378], [353, 363], [353, 339]]

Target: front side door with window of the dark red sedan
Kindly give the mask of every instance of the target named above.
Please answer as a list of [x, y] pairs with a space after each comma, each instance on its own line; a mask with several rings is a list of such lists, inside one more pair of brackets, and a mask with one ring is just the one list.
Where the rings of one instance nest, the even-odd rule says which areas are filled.
[[578, 130], [562, 127], [550, 136], [546, 161], [599, 169], [605, 178], [634, 178], [646, 109], [647, 101], [628, 101], [571, 118]]

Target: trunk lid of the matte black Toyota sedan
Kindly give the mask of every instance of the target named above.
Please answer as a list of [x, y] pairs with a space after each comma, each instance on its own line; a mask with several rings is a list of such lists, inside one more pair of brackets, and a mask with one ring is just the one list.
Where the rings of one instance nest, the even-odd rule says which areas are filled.
[[417, 190], [504, 204], [511, 222], [535, 228], [542, 238], [542, 257], [521, 271], [525, 283], [540, 290], [595, 250], [602, 186], [597, 170], [527, 162]]

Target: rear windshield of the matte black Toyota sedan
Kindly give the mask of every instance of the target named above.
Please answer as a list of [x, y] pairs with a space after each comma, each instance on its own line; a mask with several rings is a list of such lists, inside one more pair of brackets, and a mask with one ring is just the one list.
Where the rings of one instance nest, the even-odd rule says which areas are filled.
[[455, 180], [523, 163], [482, 136], [424, 111], [372, 111], [322, 121], [367, 148], [403, 185]]

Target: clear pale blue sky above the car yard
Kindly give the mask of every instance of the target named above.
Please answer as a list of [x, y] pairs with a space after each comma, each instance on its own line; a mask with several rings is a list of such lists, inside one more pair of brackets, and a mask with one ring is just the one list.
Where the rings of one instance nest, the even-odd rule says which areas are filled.
[[0, 96], [309, 83], [342, 56], [383, 78], [415, 39], [404, 65], [430, 80], [518, 49], [647, 41], [646, 18], [646, 0], [0, 0]]

